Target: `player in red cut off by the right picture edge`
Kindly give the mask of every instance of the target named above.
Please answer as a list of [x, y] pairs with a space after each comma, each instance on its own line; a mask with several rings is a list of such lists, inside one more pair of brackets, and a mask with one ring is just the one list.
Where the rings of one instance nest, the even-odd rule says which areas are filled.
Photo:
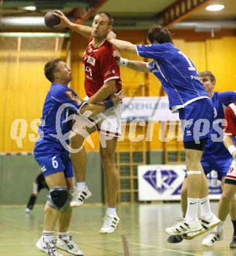
[[[220, 224], [218, 224], [216, 230], [212, 232], [212, 239], [214, 241], [220, 241], [223, 239], [224, 221], [226, 221], [226, 217], [231, 209], [231, 201], [236, 194], [236, 147], [233, 141], [233, 137], [236, 136], [236, 102], [227, 106], [225, 119], [226, 126], [224, 129], [224, 145], [233, 156], [233, 161], [226, 175], [222, 197], [220, 198], [218, 207], [218, 217], [220, 219]], [[236, 222], [233, 223], [233, 225], [236, 225]], [[229, 247], [236, 248], [236, 232], [233, 233], [232, 242]]]

